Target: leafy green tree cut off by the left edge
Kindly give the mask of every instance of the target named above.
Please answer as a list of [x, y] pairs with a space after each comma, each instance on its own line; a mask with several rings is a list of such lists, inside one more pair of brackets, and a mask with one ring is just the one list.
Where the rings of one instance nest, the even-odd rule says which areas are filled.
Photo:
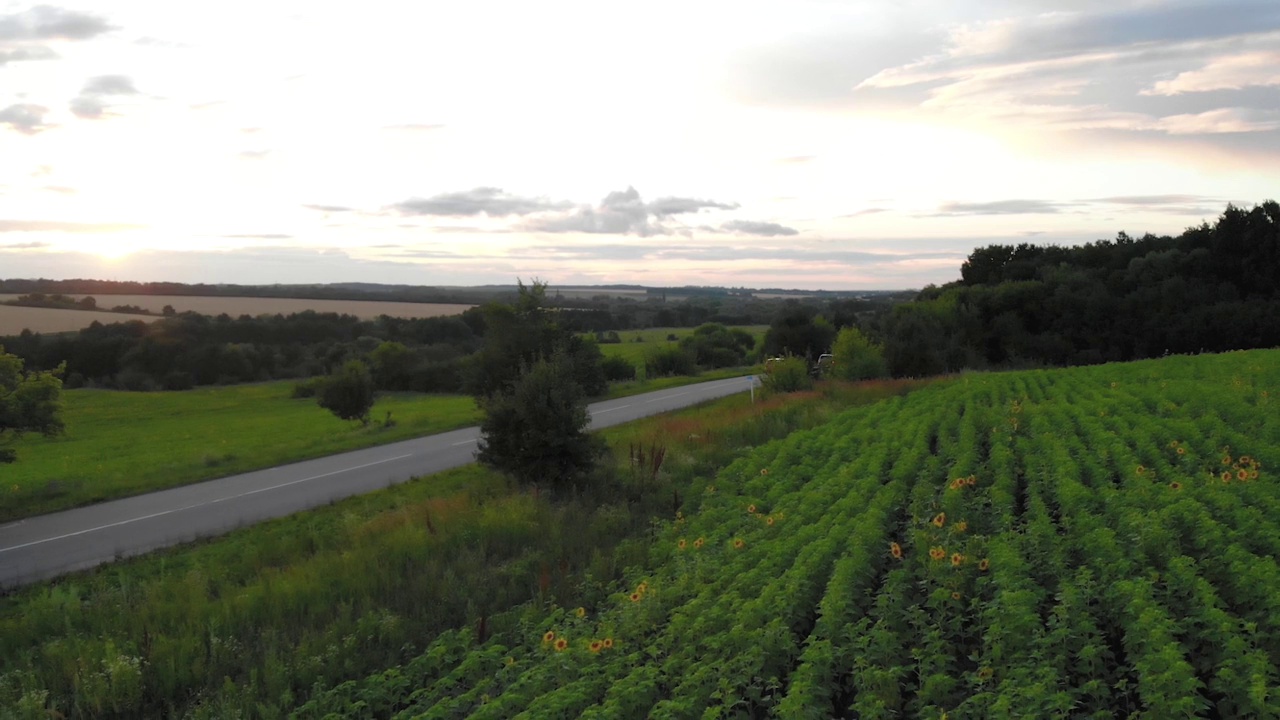
[[0, 346], [0, 462], [13, 462], [12, 443], [23, 433], [52, 437], [63, 432], [61, 368], [26, 373], [23, 361]]

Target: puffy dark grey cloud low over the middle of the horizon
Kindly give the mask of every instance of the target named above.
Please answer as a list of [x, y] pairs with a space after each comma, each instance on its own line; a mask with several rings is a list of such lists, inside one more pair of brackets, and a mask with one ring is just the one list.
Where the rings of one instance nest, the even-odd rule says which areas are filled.
[[704, 209], [733, 210], [736, 202], [718, 202], [692, 197], [659, 197], [645, 202], [634, 187], [608, 193], [599, 205], [581, 205], [568, 213], [531, 218], [524, 229], [535, 232], [580, 232], [590, 234], [675, 234], [689, 232], [682, 225], [663, 223], [672, 215], [698, 213]]

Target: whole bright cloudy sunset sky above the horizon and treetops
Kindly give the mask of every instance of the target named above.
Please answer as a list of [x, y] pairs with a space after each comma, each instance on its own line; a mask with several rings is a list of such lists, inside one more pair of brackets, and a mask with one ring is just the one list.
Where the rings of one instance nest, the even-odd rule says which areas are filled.
[[0, 278], [915, 288], [1277, 178], [1276, 0], [0, 0]]

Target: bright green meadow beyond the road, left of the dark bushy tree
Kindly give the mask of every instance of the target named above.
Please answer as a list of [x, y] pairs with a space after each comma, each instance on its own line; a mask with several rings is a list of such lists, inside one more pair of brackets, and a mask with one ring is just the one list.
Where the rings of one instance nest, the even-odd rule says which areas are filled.
[[[292, 382], [183, 392], [73, 389], [67, 433], [24, 436], [4, 468], [0, 523], [472, 425], [461, 395], [387, 393], [367, 428], [289, 397]], [[390, 414], [392, 427], [381, 421]]]

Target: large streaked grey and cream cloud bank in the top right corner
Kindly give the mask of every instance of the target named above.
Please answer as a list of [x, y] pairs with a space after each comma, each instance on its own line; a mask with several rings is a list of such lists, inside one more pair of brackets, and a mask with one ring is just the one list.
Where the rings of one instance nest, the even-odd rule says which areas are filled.
[[865, 77], [855, 96], [893, 92], [899, 108], [1133, 142], [1257, 133], [1247, 143], [1261, 149], [1280, 127], [1274, 94], [1242, 92], [1280, 86], [1272, 0], [1009, 12], [1021, 14], [948, 26], [933, 51]]

